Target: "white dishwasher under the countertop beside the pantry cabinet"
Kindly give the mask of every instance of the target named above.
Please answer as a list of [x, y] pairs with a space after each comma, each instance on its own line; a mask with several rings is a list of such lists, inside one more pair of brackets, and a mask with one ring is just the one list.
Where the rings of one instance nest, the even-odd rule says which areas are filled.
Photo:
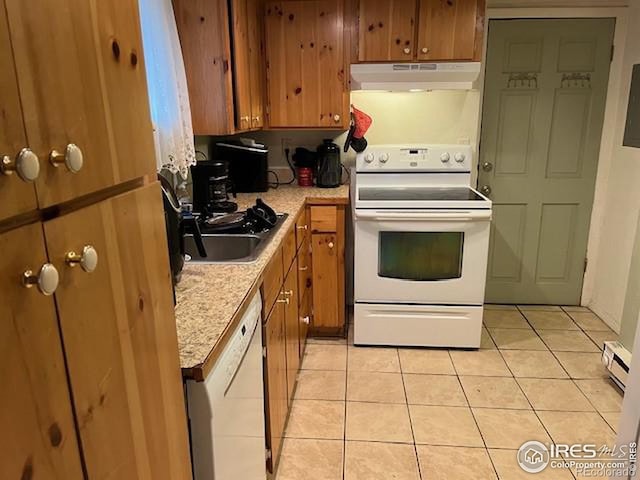
[[195, 480], [264, 480], [262, 300], [256, 294], [204, 382], [187, 382]]

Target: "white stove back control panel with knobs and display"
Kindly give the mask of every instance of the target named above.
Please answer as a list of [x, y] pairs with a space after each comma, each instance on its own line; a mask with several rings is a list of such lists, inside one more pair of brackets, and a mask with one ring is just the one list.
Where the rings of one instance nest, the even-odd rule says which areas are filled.
[[470, 145], [370, 145], [356, 156], [358, 172], [471, 172]]

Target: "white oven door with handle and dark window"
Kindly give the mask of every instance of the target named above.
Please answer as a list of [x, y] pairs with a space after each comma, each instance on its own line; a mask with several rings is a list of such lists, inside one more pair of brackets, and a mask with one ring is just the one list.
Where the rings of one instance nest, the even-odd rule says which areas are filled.
[[355, 300], [482, 305], [491, 210], [358, 210]]

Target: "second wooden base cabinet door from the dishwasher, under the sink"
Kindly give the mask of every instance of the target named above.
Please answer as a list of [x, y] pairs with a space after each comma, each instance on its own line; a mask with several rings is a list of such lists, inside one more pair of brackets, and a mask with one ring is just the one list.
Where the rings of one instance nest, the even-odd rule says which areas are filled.
[[284, 295], [288, 300], [285, 307], [285, 328], [287, 337], [287, 398], [293, 400], [296, 376], [300, 368], [300, 331], [298, 315], [298, 262], [293, 261], [291, 270], [284, 281]]

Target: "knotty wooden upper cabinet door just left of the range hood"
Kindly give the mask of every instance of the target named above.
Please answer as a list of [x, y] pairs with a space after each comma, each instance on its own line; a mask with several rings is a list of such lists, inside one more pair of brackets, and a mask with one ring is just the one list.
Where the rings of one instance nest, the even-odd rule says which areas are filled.
[[342, 0], [265, 5], [268, 125], [345, 128], [349, 95]]

